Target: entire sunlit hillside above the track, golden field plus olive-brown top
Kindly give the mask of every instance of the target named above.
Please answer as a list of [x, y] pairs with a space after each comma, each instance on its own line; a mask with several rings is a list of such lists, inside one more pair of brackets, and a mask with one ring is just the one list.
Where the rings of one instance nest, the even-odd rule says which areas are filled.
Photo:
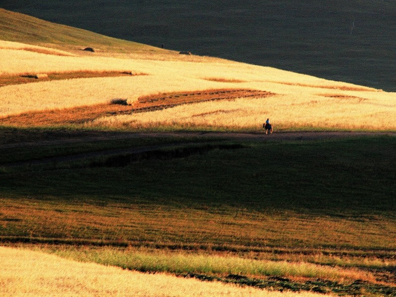
[[[41, 120], [32, 122], [32, 112], [42, 112], [35, 113], [35, 118], [41, 119], [56, 109], [56, 125], [257, 131], [262, 129], [263, 118], [269, 117], [281, 130], [396, 129], [394, 93], [271, 67], [181, 55], [1, 12], [3, 23], [15, 23], [15, 28], [1, 26], [3, 38], [14, 36], [20, 42], [0, 40], [0, 54], [6, 57], [0, 60], [3, 125], [48, 125]], [[27, 45], [29, 42], [46, 47]], [[88, 42], [98, 47], [98, 52], [82, 51]], [[36, 74], [49, 77], [38, 80]], [[224, 94], [220, 92], [229, 91], [242, 95], [219, 97]], [[189, 99], [189, 94], [202, 92], [212, 93], [205, 102]], [[142, 105], [142, 98], [151, 95], [154, 97], [149, 100], [154, 100], [155, 106], [142, 110], [148, 107]], [[164, 96], [186, 100], [177, 99], [175, 105]], [[117, 110], [110, 106], [114, 99], [127, 105]], [[71, 119], [70, 114], [81, 111], [73, 108], [82, 106], [84, 110], [93, 108], [89, 120]], [[59, 111], [62, 108], [66, 109]], [[26, 114], [19, 117], [20, 113]]]

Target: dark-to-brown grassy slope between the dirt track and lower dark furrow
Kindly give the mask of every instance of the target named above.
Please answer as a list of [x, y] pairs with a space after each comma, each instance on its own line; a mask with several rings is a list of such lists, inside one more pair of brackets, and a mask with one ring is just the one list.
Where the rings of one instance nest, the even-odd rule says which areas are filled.
[[[12, 206], [2, 208], [1, 235], [394, 250], [394, 148], [394, 138], [250, 144], [126, 167], [99, 159], [4, 168], [2, 203]], [[34, 149], [25, 150], [14, 158], [32, 157]]]

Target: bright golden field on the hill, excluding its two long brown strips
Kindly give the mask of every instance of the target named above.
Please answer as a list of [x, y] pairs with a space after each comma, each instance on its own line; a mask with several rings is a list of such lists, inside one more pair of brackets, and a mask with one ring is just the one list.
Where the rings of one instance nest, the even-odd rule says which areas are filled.
[[[278, 129], [396, 130], [396, 93], [334, 82], [271, 67], [180, 55], [169, 60], [113, 57], [0, 41], [0, 116], [59, 110], [142, 96], [204, 90], [259, 90], [270, 97], [196, 102], [114, 116], [98, 116], [85, 126], [131, 128], [209, 127], [259, 129], [270, 118]], [[145, 75], [40, 80], [12, 84], [12, 78], [38, 73], [121, 71]]]

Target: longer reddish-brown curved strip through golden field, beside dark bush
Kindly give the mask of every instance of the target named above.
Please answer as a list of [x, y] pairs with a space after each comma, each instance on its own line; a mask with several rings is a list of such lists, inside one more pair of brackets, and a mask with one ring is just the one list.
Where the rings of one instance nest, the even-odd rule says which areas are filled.
[[126, 100], [114, 99], [112, 101], [116, 102], [119, 100], [119, 104], [109, 102], [91, 106], [33, 111], [19, 115], [10, 115], [0, 118], [0, 125], [47, 126], [83, 124], [103, 116], [148, 112], [202, 101], [231, 100], [236, 98], [265, 98], [271, 95], [275, 94], [245, 89], [166, 93], [141, 97], [137, 102], [131, 105], [127, 104]]

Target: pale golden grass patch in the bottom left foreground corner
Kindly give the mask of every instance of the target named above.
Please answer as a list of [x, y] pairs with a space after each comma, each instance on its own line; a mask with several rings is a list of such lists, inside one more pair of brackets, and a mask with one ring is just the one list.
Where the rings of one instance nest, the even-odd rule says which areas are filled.
[[312, 293], [280, 293], [241, 288], [162, 273], [143, 274], [10, 247], [0, 247], [0, 262], [1, 296], [320, 296]]

